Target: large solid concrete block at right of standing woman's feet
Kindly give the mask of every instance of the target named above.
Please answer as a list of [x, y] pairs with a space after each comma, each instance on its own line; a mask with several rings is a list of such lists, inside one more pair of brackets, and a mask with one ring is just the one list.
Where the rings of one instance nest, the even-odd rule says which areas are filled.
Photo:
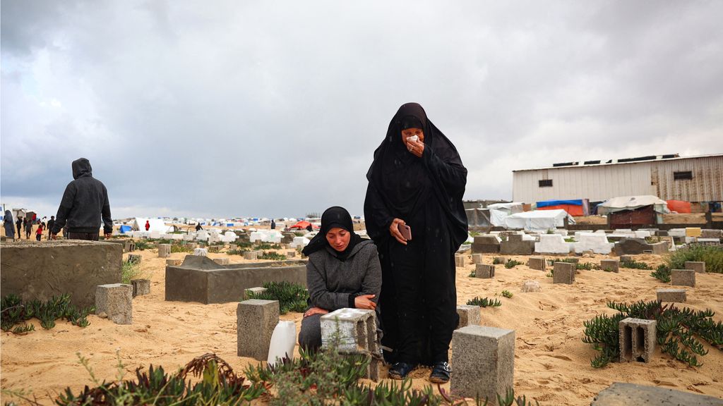
[[452, 365], [453, 395], [488, 399], [497, 405], [497, 394], [513, 388], [514, 330], [482, 326], [456, 329], [452, 334]]

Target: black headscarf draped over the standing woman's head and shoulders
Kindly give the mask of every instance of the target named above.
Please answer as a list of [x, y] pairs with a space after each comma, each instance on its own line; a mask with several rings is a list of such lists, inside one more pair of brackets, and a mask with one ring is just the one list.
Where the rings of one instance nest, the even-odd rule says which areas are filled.
[[[401, 139], [403, 129], [417, 126], [421, 126], [424, 131], [424, 154], [421, 160], [406, 150]], [[467, 215], [462, 204], [464, 189], [448, 191], [436, 170], [432, 169], [429, 158], [432, 151], [442, 162], [464, 168], [459, 152], [445, 134], [429, 121], [424, 108], [418, 103], [403, 104], [390, 121], [384, 141], [374, 152], [374, 162], [367, 172], [367, 180], [379, 192], [391, 215], [400, 218], [413, 210], [419, 196], [424, 195], [424, 188], [430, 187], [447, 215], [453, 243], [458, 247], [467, 239]], [[417, 162], [423, 165], [409, 165]], [[409, 169], [400, 172], [400, 166]], [[370, 227], [369, 223], [367, 220], [369, 236], [388, 236], [388, 230], [378, 230], [377, 233], [377, 230], [373, 230], [375, 226]]]

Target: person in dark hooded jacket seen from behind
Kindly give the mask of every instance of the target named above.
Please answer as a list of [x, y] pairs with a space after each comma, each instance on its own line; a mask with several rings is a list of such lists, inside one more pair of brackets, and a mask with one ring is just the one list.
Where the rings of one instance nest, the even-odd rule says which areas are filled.
[[113, 233], [113, 220], [106, 186], [93, 178], [93, 168], [87, 159], [74, 160], [71, 167], [74, 180], [66, 186], [60, 202], [51, 230], [53, 239], [67, 223], [67, 233], [63, 234], [67, 238], [98, 241], [101, 218], [103, 233], [108, 238]]

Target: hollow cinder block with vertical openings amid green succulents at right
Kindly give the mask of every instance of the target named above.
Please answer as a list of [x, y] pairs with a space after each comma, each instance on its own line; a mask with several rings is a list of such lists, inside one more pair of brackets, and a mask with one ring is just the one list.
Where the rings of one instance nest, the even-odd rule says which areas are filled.
[[620, 362], [649, 362], [655, 351], [656, 321], [623, 319], [620, 329]]

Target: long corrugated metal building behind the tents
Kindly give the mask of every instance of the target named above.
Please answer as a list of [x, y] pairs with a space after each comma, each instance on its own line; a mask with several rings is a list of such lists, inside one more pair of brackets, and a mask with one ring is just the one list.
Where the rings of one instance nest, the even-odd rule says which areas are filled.
[[513, 200], [589, 199], [651, 194], [663, 200], [723, 201], [723, 154], [662, 155], [513, 170]]

